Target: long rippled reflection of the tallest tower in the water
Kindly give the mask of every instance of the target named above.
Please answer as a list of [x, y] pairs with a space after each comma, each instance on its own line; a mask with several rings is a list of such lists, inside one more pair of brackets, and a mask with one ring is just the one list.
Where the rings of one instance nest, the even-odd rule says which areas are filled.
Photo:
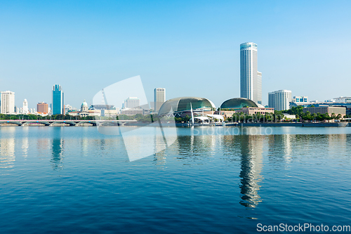
[[244, 207], [256, 207], [262, 200], [258, 195], [260, 190], [260, 181], [263, 177], [260, 175], [263, 166], [263, 141], [264, 136], [260, 135], [242, 135], [233, 138], [239, 142], [241, 151], [241, 171], [239, 185], [241, 201]]

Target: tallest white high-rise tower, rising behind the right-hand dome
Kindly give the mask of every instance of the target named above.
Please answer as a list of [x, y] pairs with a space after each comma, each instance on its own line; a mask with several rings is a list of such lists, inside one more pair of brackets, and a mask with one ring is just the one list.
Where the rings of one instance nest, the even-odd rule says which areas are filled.
[[240, 44], [240, 97], [262, 104], [262, 73], [257, 70], [257, 44]]

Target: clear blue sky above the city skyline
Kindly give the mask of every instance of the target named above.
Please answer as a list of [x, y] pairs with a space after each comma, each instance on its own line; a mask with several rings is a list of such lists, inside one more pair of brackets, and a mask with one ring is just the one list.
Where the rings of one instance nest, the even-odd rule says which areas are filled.
[[[267, 93], [351, 96], [351, 1], [0, 1], [0, 91], [79, 108], [140, 75], [149, 101], [239, 97], [239, 44], [258, 44]], [[127, 98], [127, 97], [126, 97]], [[115, 105], [120, 105], [115, 103]]]

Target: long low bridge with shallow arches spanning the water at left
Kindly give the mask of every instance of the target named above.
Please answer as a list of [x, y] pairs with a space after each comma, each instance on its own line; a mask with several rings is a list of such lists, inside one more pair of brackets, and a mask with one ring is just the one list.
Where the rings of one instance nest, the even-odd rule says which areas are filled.
[[119, 126], [126, 123], [137, 122], [136, 120], [51, 120], [51, 119], [7, 119], [0, 120], [0, 124], [18, 124], [18, 126], [44, 124], [45, 126], [52, 126], [53, 124], [65, 124], [69, 126], [77, 126], [81, 124], [92, 124], [93, 126]]

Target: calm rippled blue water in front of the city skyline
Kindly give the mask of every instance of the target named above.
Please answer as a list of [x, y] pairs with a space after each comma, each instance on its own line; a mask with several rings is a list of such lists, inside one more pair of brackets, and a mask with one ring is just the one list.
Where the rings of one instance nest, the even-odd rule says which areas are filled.
[[177, 128], [170, 148], [129, 162], [121, 136], [95, 127], [1, 127], [1, 233], [351, 225], [351, 128], [263, 130]]

